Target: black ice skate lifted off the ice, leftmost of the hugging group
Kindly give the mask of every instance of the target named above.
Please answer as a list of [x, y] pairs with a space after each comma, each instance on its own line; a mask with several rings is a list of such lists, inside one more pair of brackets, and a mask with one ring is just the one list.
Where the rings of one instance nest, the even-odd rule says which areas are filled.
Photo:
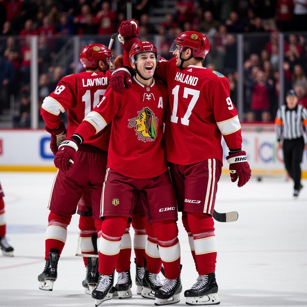
[[60, 251], [56, 248], [51, 248], [49, 257], [46, 260], [45, 270], [38, 276], [40, 282], [39, 288], [45, 291], [52, 291], [53, 283], [57, 278], [57, 265], [59, 262]]

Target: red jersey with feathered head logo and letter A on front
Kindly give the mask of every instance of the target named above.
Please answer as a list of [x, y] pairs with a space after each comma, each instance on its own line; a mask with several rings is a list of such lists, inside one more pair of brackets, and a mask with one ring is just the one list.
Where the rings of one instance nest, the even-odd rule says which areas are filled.
[[108, 88], [75, 133], [87, 140], [112, 121], [107, 167], [130, 178], [159, 176], [168, 168], [163, 143], [167, 97], [161, 81], [144, 86], [133, 77], [124, 93]]

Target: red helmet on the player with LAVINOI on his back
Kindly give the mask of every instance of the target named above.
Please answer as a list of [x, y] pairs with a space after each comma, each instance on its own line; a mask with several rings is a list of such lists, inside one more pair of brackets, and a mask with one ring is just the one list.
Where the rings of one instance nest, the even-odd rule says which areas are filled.
[[113, 54], [109, 48], [102, 44], [86, 45], [80, 53], [80, 61], [84, 68], [96, 68], [98, 62], [102, 60], [109, 67], [114, 66]]

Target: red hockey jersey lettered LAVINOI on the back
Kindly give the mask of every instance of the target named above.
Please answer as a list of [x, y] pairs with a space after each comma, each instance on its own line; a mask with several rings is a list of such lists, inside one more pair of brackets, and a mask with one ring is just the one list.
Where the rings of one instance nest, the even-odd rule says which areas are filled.
[[[55, 91], [44, 99], [41, 106], [41, 115], [46, 126], [56, 129], [60, 125], [60, 112], [68, 110], [67, 137], [70, 138], [87, 113], [103, 98], [110, 76], [110, 71], [80, 72], [62, 78]], [[110, 131], [111, 125], [84, 143], [107, 150]]]

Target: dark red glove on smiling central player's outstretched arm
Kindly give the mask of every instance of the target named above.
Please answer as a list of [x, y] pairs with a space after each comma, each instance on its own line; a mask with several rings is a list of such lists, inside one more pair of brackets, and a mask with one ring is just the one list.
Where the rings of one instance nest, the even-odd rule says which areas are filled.
[[78, 144], [74, 139], [68, 138], [63, 141], [54, 158], [54, 165], [62, 172], [67, 172], [72, 167], [69, 163], [74, 163], [77, 150]]

